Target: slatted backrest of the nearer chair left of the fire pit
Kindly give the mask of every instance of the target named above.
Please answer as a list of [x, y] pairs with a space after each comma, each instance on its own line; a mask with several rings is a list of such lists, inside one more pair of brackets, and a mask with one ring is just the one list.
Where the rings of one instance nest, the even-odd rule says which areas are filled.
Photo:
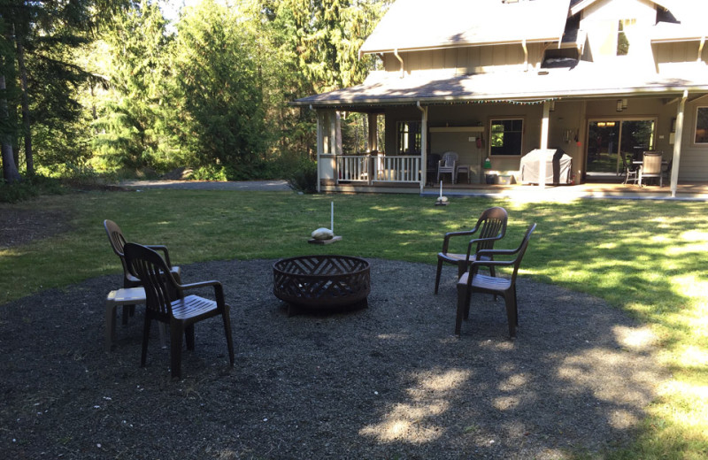
[[126, 264], [145, 288], [147, 308], [163, 315], [171, 315], [171, 303], [178, 295], [177, 283], [170, 268], [157, 252], [135, 242], [125, 245]]

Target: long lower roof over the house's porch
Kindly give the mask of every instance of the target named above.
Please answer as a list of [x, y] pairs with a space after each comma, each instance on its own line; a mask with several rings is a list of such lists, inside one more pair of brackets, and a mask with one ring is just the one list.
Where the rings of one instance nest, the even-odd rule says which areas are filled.
[[293, 105], [366, 109], [367, 106], [415, 103], [529, 102], [612, 96], [667, 96], [708, 92], [708, 67], [702, 63], [682, 66], [673, 74], [622, 71], [612, 66], [579, 62], [572, 68], [549, 68], [542, 72], [506, 72], [459, 75], [435, 79], [398, 78], [372, 73], [352, 88], [308, 96]]

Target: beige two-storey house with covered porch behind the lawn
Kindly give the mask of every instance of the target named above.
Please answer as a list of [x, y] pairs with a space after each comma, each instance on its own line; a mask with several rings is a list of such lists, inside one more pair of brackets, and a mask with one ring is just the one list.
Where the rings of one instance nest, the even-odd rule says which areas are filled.
[[[705, 18], [705, 0], [397, 0], [360, 50], [379, 70], [293, 102], [317, 112], [319, 187], [422, 191], [450, 150], [460, 182], [519, 182], [535, 149], [565, 151], [576, 182], [644, 150], [672, 194], [708, 180]], [[337, 140], [349, 112], [368, 116], [366, 152]]]

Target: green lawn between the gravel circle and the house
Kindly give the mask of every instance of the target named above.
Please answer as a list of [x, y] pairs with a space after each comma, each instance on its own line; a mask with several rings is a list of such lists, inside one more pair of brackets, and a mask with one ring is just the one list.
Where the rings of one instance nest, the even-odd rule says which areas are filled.
[[[329, 226], [341, 242], [306, 243]], [[41, 289], [119, 273], [103, 220], [128, 240], [165, 243], [175, 265], [215, 259], [340, 253], [435, 263], [442, 234], [473, 224], [502, 205], [510, 214], [506, 246], [538, 223], [522, 272], [535, 280], [603, 297], [650, 325], [673, 378], [649, 408], [635, 446], [616, 458], [708, 456], [708, 213], [704, 203], [586, 200], [515, 203], [453, 199], [435, 207], [419, 196], [298, 196], [283, 193], [142, 192], [48, 196], [4, 207], [63, 210], [74, 228], [0, 249], [0, 304]], [[430, 287], [434, 284], [431, 266]]]

